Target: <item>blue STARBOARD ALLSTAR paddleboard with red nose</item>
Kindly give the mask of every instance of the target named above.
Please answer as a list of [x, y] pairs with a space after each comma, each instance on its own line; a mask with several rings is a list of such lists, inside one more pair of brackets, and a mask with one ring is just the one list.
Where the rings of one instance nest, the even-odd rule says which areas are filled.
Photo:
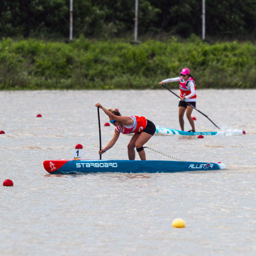
[[66, 173], [173, 173], [225, 169], [223, 163], [156, 161], [156, 160], [89, 160], [64, 159], [44, 161], [44, 168], [51, 174]]

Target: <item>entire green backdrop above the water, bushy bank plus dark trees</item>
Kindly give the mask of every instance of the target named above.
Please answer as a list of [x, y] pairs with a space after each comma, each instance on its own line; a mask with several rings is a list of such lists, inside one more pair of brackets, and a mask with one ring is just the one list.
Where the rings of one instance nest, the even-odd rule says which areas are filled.
[[127, 0], [73, 1], [75, 39], [65, 44], [69, 0], [1, 0], [0, 90], [154, 89], [183, 67], [197, 88], [255, 88], [255, 0], [205, 1], [215, 44], [199, 39], [202, 1], [138, 3], [140, 44], [130, 43], [135, 1]]

